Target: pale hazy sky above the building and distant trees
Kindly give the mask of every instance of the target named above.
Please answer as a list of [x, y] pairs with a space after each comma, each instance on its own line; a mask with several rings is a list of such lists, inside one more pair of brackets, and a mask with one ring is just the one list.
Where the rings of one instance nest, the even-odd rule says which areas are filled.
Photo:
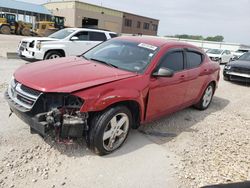
[[[48, 0], [21, 0], [42, 4]], [[53, 1], [53, 0], [52, 0]], [[250, 0], [81, 0], [160, 20], [158, 35], [224, 36], [250, 45]]]

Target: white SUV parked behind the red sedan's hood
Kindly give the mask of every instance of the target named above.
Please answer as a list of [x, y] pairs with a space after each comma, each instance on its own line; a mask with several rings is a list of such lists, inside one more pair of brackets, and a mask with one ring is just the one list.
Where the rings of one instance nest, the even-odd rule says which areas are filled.
[[116, 33], [104, 30], [67, 28], [49, 37], [22, 39], [18, 45], [18, 54], [22, 58], [34, 60], [76, 56], [116, 36]]

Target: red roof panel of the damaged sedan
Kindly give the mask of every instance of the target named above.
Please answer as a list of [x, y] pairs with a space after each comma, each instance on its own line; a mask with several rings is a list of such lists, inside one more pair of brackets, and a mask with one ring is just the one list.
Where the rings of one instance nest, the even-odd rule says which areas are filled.
[[188, 44], [186, 42], [169, 40], [169, 39], [166, 39], [164, 37], [157, 37], [157, 36], [121, 36], [121, 37], [117, 37], [117, 38], [115, 38], [113, 40], [119, 40], [119, 39], [138, 42], [138, 43], [145, 43], [145, 44], [153, 45], [153, 46], [156, 46], [156, 47], [183, 46], [185, 48], [190, 47], [190, 48], [194, 48], [194, 49], [197, 49], [197, 50], [201, 51], [200, 48], [198, 48], [197, 46], [194, 46], [192, 44]]

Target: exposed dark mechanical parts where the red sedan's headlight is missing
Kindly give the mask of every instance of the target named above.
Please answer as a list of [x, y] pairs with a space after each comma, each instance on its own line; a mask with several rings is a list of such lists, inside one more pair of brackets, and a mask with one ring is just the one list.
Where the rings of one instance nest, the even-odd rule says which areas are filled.
[[88, 114], [80, 112], [82, 99], [68, 94], [45, 94], [38, 103], [42, 104], [35, 105], [32, 111], [40, 111], [36, 106], [44, 107], [36, 117], [45, 125], [45, 133], [57, 140], [82, 137], [84, 131], [88, 130]]

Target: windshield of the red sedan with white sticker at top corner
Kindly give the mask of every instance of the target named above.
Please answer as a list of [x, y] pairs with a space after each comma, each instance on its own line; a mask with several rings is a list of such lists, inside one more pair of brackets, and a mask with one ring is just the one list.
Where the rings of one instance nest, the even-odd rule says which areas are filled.
[[109, 40], [83, 54], [83, 57], [103, 62], [130, 72], [143, 72], [157, 52], [157, 47], [144, 43]]

